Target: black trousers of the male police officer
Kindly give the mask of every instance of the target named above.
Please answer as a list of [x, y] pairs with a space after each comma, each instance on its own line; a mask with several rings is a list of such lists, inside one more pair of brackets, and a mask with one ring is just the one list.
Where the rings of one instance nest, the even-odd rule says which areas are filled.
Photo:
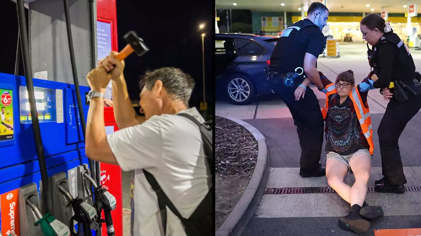
[[271, 85], [272, 90], [279, 94], [289, 108], [297, 126], [298, 139], [301, 147], [300, 167], [302, 171], [311, 171], [319, 167], [322, 154], [324, 122], [319, 100], [313, 90], [307, 87], [304, 99], [296, 101], [294, 91], [301, 84], [296, 81], [293, 87], [280, 84]]

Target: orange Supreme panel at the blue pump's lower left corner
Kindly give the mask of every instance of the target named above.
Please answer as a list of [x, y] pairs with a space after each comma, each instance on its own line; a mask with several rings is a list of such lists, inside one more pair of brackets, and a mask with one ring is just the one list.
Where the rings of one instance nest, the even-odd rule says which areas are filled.
[[0, 232], [2, 235], [20, 235], [19, 189], [0, 195]]

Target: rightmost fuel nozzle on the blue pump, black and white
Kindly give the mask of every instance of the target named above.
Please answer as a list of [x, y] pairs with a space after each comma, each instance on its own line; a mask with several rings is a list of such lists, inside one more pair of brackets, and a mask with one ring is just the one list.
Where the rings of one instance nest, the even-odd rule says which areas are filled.
[[114, 236], [114, 224], [112, 222], [111, 211], [115, 210], [117, 207], [117, 201], [115, 197], [107, 191], [107, 189], [103, 189], [101, 185], [97, 185], [96, 182], [88, 175], [88, 173], [83, 173], [83, 177], [86, 178], [91, 184], [93, 185], [93, 193], [95, 194], [95, 205], [96, 209], [98, 210], [99, 219], [97, 222], [99, 224], [103, 223], [104, 221], [100, 219], [101, 217], [101, 210], [104, 210], [104, 218], [105, 218], [105, 225], [107, 226], [107, 235]]

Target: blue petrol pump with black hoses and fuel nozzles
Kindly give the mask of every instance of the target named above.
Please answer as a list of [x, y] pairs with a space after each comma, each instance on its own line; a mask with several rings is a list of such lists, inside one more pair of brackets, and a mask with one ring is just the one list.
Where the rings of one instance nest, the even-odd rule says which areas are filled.
[[[97, 185], [99, 164], [85, 155], [88, 102], [80, 94], [90, 89], [77, 80], [67, 0], [63, 6], [74, 84], [32, 78], [24, 0], [16, 3], [16, 54], [23, 54], [25, 76], [17, 76], [16, 70], [15, 75], [0, 73], [0, 233], [100, 235], [104, 220], [98, 215], [113, 210], [115, 198]], [[93, 1], [89, 7], [92, 13]]]

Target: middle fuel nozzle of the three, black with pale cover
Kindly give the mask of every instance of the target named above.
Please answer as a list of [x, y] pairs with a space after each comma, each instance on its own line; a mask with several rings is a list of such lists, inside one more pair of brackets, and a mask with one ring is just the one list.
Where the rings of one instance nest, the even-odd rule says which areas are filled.
[[[92, 235], [91, 224], [95, 223], [97, 219], [95, 208], [86, 203], [83, 199], [73, 198], [69, 191], [64, 189], [61, 185], [59, 185], [59, 191], [69, 200], [67, 207], [72, 207], [73, 212], [75, 212], [75, 215], [70, 219], [69, 228], [74, 229], [74, 220], [76, 220], [78, 224], [82, 224], [85, 236]], [[80, 227], [77, 228], [77, 232], [72, 230], [70, 233], [72, 236], [79, 235]]]

